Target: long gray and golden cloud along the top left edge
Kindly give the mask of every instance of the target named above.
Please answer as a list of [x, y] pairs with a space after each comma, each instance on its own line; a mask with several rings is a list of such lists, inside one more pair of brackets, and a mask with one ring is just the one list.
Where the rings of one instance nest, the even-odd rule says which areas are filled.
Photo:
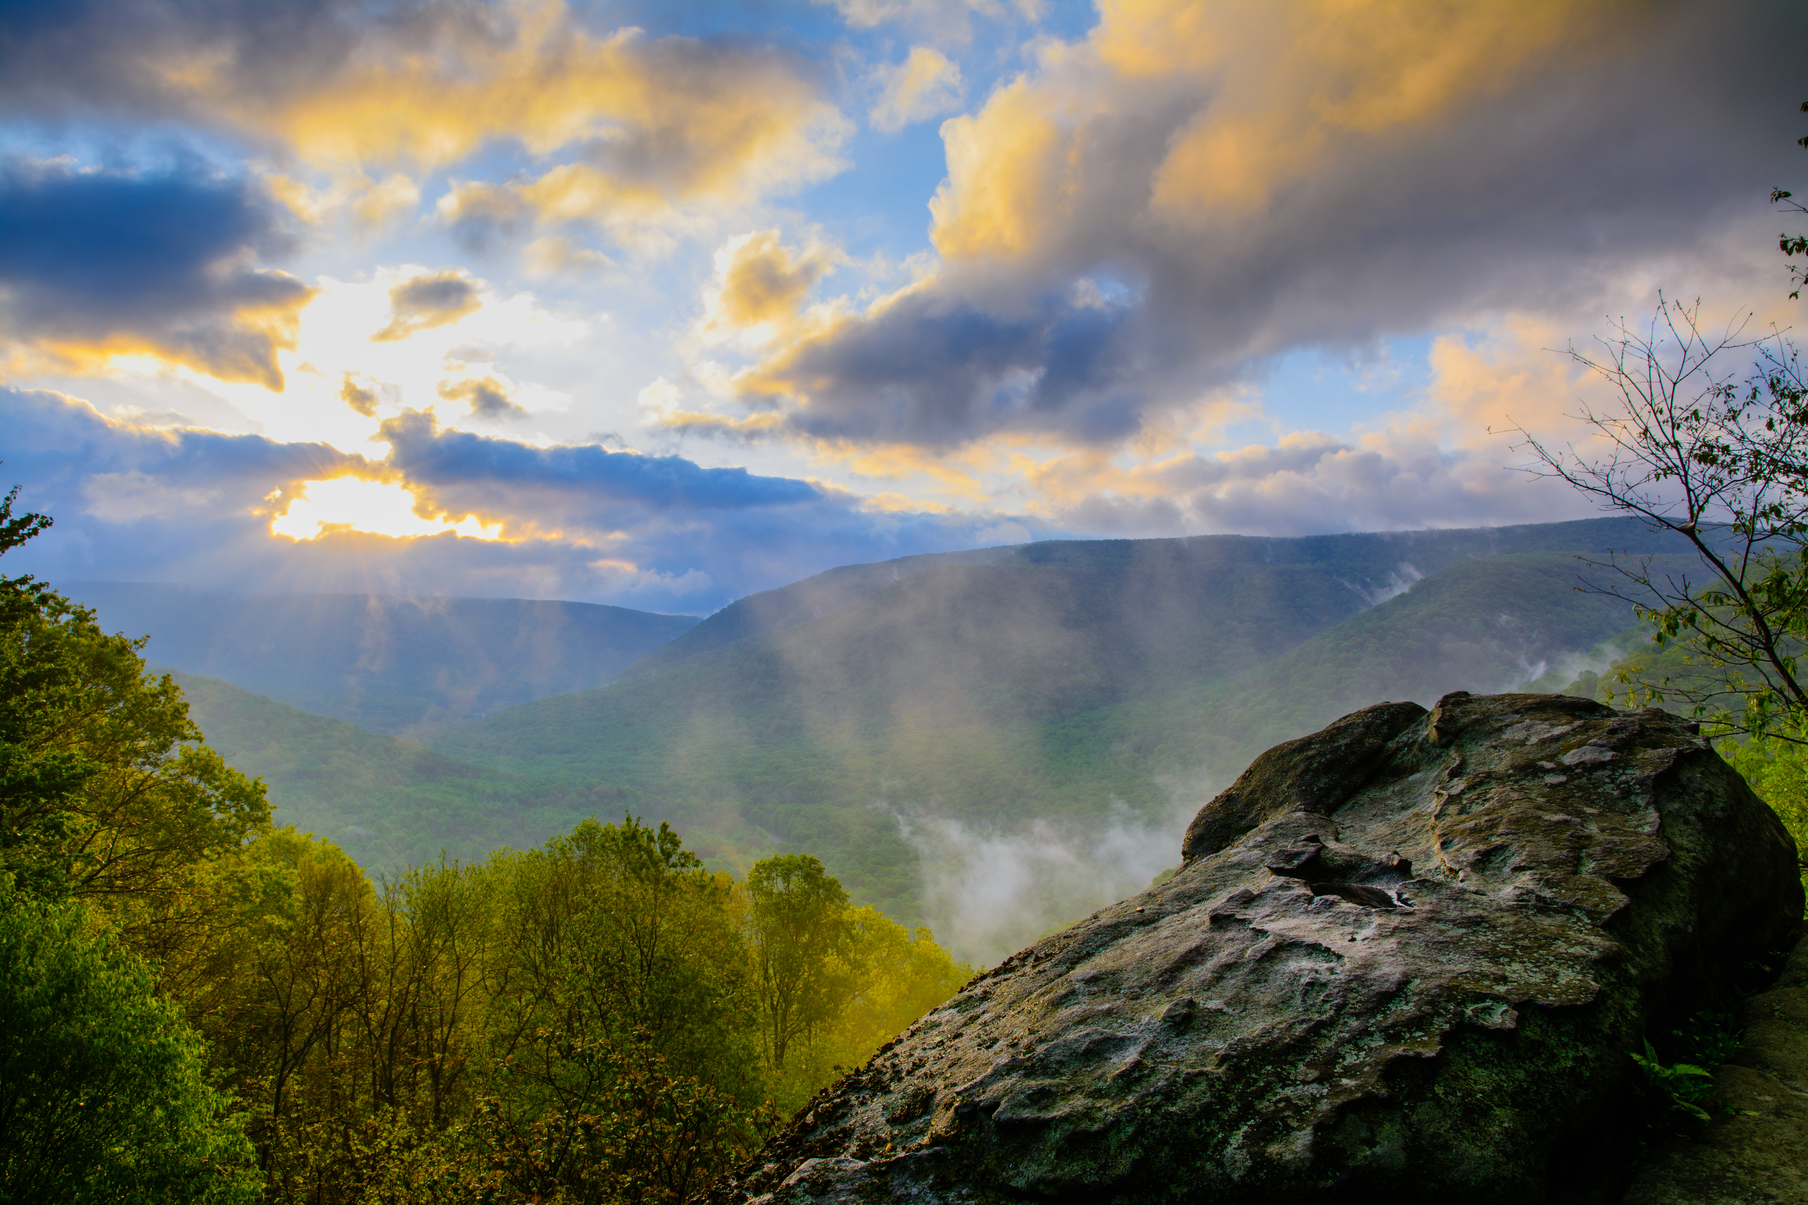
[[539, 179], [452, 181], [441, 217], [474, 248], [532, 224], [658, 226], [837, 170], [848, 123], [801, 56], [604, 29], [609, 14], [557, 0], [25, 5], [0, 40], [0, 103], [45, 125], [174, 119], [353, 184], [394, 172], [410, 199], [410, 172], [526, 148]]

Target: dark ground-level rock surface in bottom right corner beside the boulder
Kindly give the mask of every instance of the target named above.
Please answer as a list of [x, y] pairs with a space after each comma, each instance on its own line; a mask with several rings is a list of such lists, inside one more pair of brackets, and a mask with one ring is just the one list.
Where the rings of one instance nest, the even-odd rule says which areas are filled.
[[1745, 1046], [1714, 1071], [1736, 1113], [1653, 1160], [1625, 1205], [1808, 1201], [1808, 941], [1741, 1014]]

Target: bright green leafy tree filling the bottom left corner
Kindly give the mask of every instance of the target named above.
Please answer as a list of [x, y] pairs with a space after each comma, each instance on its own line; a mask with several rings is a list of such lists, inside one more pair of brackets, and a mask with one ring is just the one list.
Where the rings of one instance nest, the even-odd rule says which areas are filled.
[[0, 1201], [255, 1201], [244, 1115], [136, 954], [0, 880]]

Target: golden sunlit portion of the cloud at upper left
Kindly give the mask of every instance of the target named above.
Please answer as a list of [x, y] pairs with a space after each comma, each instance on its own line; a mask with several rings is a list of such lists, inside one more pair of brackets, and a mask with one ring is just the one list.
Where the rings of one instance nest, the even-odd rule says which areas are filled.
[[638, 29], [595, 38], [559, 2], [512, 16], [510, 27], [410, 27], [407, 43], [367, 36], [345, 65], [291, 92], [246, 94], [201, 63], [165, 72], [165, 85], [336, 177], [391, 170], [356, 197], [365, 220], [414, 204], [412, 179], [497, 139], [570, 159], [510, 186], [548, 222], [645, 220], [839, 170], [848, 123], [781, 52]]

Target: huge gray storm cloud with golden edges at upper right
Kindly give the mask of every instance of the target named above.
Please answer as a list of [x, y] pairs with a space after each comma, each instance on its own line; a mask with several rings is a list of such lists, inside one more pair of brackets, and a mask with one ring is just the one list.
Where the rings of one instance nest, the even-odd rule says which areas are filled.
[[1329, 132], [1282, 96], [1313, 96], [1318, 60], [1264, 42], [1311, 42], [1285, 14], [1313, 5], [1211, 9], [1242, 22], [1251, 63], [1276, 49], [1273, 83], [1061, 56], [944, 128], [938, 278], [781, 349], [743, 390], [810, 439], [1108, 444], [1284, 349], [1586, 309], [1634, 266], [1716, 257], [1728, 222], [1768, 217], [1768, 188], [1799, 170], [1808, 11], [1602, 7], [1566, 25], [1544, 7], [1549, 42], [1499, 51], [1517, 63], [1499, 78], [1495, 27], [1450, 31], [1486, 79], [1423, 114], [1394, 108], [1414, 70], [1437, 70], [1436, 42], [1399, 79], [1332, 61], [1356, 99], [1325, 101], [1352, 110]]

